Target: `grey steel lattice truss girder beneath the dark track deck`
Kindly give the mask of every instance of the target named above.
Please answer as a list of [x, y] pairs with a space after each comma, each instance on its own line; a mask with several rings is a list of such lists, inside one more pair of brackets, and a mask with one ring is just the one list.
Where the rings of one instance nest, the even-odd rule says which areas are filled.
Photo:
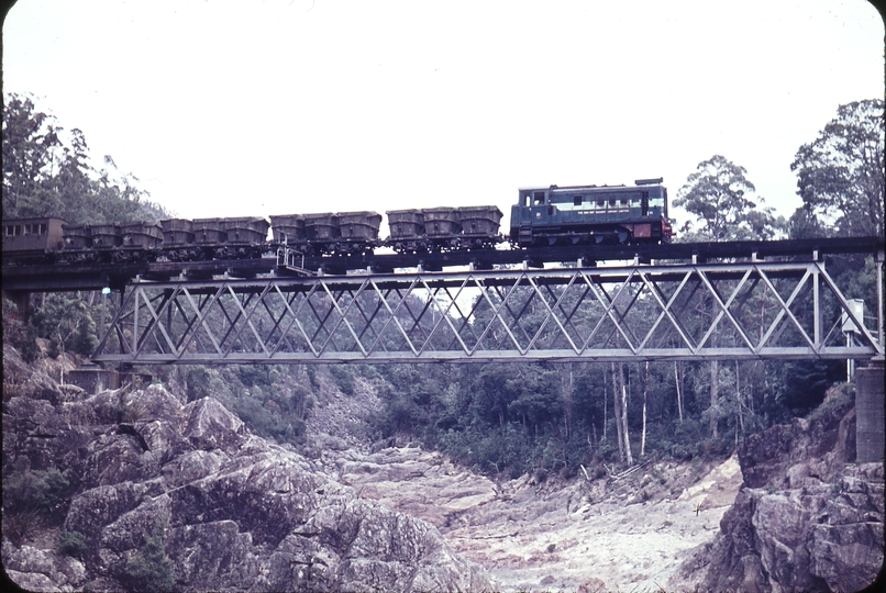
[[135, 282], [103, 329], [130, 365], [883, 354], [818, 261]]

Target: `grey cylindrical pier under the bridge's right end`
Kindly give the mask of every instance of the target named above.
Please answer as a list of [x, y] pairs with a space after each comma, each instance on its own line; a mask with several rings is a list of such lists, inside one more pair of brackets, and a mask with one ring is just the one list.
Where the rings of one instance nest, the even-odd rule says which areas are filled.
[[883, 355], [855, 370], [855, 460], [859, 463], [883, 461]]

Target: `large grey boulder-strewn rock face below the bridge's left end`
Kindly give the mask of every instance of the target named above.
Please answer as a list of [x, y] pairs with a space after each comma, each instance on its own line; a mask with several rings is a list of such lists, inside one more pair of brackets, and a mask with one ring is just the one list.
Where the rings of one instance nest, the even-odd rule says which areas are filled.
[[4, 533], [3, 568], [25, 589], [139, 589], [151, 545], [180, 591], [490, 588], [434, 526], [358, 499], [211, 398], [185, 404], [160, 385], [89, 396], [11, 348], [3, 381], [4, 466], [64, 471], [70, 497], [56, 511], [86, 542], [74, 558]]

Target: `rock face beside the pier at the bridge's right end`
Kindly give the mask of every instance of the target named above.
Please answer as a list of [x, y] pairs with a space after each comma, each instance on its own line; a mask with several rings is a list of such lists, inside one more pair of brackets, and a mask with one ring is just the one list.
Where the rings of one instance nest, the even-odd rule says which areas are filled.
[[720, 534], [675, 589], [859, 591], [884, 559], [883, 463], [855, 463], [855, 410], [832, 390], [809, 418], [749, 437], [744, 483]]

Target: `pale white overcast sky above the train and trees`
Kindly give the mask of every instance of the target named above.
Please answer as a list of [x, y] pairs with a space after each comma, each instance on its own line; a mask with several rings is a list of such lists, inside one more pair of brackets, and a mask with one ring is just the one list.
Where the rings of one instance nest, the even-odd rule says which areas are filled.
[[182, 217], [673, 199], [717, 154], [787, 217], [797, 149], [884, 96], [865, 0], [19, 0], [2, 41], [4, 93]]

